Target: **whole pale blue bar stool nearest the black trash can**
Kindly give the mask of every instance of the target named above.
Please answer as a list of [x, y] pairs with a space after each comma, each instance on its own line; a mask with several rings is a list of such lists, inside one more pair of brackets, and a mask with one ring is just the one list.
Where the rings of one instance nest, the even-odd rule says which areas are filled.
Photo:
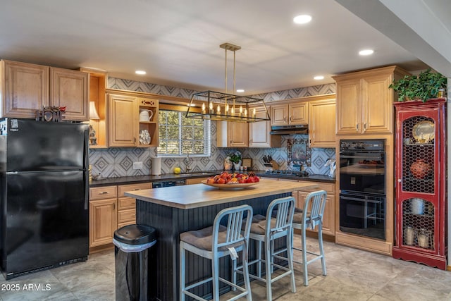
[[[252, 300], [250, 290], [249, 271], [247, 269], [247, 250], [249, 245], [249, 231], [252, 220], [252, 207], [242, 205], [227, 208], [219, 211], [214, 219], [213, 226], [203, 228], [198, 231], [187, 231], [180, 233], [180, 300], [185, 300], [185, 295], [196, 300], [204, 298], [190, 292], [192, 288], [212, 281], [213, 300], [219, 300], [219, 281], [230, 285], [233, 290], [240, 290], [242, 293], [228, 300], [237, 300], [240, 297], [247, 297]], [[247, 216], [247, 218], [246, 218]], [[227, 226], [221, 225], [221, 220], [227, 219]], [[246, 220], [245, 220], [246, 219]], [[242, 225], [245, 223], [244, 231]], [[186, 285], [185, 283], [185, 256], [186, 251], [197, 254], [201, 257], [211, 259], [211, 277], [202, 281]], [[235, 274], [233, 283], [219, 277], [219, 258], [229, 256], [233, 259], [233, 266], [236, 266], [237, 252], [242, 252], [243, 278], [245, 288], [235, 284]]]

